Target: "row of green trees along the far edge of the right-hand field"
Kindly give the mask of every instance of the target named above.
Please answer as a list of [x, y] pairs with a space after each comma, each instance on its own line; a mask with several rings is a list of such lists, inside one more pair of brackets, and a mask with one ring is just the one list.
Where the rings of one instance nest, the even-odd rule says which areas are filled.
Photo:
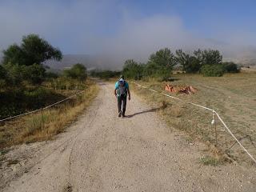
[[138, 63], [128, 59], [123, 66], [126, 78], [141, 79], [142, 77], [168, 78], [174, 67], [181, 68], [187, 74], [202, 74], [219, 77], [225, 73], [238, 73], [239, 67], [234, 62], [223, 62], [218, 50], [194, 50], [186, 54], [176, 50], [173, 54], [169, 48], [164, 48], [150, 54], [148, 62]]

